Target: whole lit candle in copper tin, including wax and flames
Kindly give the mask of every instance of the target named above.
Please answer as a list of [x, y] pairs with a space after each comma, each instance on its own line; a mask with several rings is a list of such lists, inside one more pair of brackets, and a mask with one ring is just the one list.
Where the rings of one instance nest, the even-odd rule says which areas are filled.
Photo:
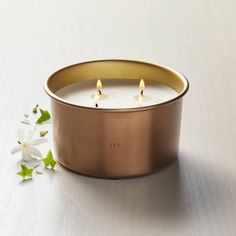
[[89, 61], [53, 73], [44, 84], [52, 106], [58, 161], [89, 176], [153, 173], [177, 158], [188, 81], [161, 65]]

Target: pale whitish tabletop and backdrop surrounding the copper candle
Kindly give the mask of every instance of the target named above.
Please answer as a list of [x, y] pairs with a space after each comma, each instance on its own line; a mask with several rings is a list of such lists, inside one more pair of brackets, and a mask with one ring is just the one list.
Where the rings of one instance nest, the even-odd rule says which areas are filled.
[[[235, 235], [235, 12], [234, 0], [0, 0], [0, 235]], [[143, 178], [57, 166], [22, 183], [9, 152], [22, 114], [50, 109], [44, 79], [102, 58], [188, 77], [179, 160]]]

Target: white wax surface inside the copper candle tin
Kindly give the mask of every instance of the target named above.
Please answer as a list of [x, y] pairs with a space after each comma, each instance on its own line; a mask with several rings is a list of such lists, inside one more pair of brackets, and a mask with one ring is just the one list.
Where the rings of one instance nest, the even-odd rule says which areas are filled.
[[89, 80], [65, 86], [56, 95], [70, 103], [84, 107], [98, 108], [135, 108], [155, 105], [178, 96], [169, 86], [145, 80], [146, 87], [140, 98], [139, 80], [104, 79], [102, 80], [101, 96], [97, 94], [97, 80]]

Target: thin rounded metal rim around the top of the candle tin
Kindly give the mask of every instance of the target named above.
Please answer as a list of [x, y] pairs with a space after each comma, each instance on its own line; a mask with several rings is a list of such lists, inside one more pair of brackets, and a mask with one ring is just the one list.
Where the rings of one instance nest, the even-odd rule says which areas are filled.
[[[157, 66], [157, 67], [160, 67], [162, 69], [168, 70], [168, 71], [176, 74], [179, 78], [181, 78], [182, 82], [184, 83], [184, 89], [183, 89], [183, 91], [178, 96], [176, 96], [175, 98], [172, 98], [172, 99], [170, 99], [168, 101], [165, 101], [165, 102], [162, 102], [162, 103], [158, 103], [158, 104], [154, 104], [154, 105], [143, 106], [143, 107], [134, 107], [134, 108], [95, 108], [95, 107], [93, 108], [93, 107], [80, 106], [80, 105], [68, 102], [68, 101], [60, 98], [59, 96], [57, 96], [55, 93], [53, 93], [49, 89], [49, 86], [48, 86], [49, 80], [55, 74], [57, 74], [57, 73], [59, 73], [61, 71], [67, 70], [68, 68], [75, 67], [75, 66], [78, 66], [78, 65], [86, 64], [86, 63], [112, 62], [112, 61], [134, 62], [134, 63], [146, 64], [146, 65], [151, 65], [151, 66]], [[161, 65], [161, 64], [154, 64], [154, 63], [149, 63], [149, 62], [143, 62], [143, 61], [137, 61], [137, 60], [128, 60], [128, 59], [103, 59], [103, 60], [93, 60], [93, 61], [80, 62], [80, 63], [72, 64], [72, 65], [66, 66], [66, 67], [64, 67], [62, 69], [57, 70], [49, 78], [47, 78], [45, 80], [45, 82], [44, 82], [44, 90], [45, 90], [45, 92], [51, 98], [53, 98], [57, 102], [60, 102], [60, 103], [62, 103], [64, 105], [67, 105], [67, 106], [74, 106], [74, 107], [77, 107], [77, 108], [80, 108], [80, 109], [93, 110], [93, 111], [96, 111], [96, 112], [137, 112], [137, 111], [143, 111], [143, 110], [149, 110], [149, 109], [157, 108], [157, 107], [160, 107], [160, 106], [166, 106], [166, 105], [169, 105], [169, 104], [171, 104], [173, 102], [176, 102], [177, 100], [182, 98], [188, 92], [188, 90], [189, 90], [189, 82], [188, 82], [188, 79], [182, 73], [178, 72], [175, 69], [172, 69], [172, 68], [170, 68], [168, 66], [164, 66], [164, 65]]]

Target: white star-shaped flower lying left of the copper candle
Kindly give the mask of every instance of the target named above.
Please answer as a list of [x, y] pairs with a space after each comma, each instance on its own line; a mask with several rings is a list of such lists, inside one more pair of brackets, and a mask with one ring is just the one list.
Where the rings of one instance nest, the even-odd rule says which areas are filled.
[[18, 130], [17, 142], [19, 143], [19, 145], [12, 149], [11, 154], [22, 151], [23, 161], [31, 161], [33, 156], [41, 158], [42, 157], [41, 152], [34, 146], [45, 143], [47, 139], [45, 138], [33, 139], [34, 133], [35, 129], [29, 131], [27, 134], [25, 134], [23, 130]]

